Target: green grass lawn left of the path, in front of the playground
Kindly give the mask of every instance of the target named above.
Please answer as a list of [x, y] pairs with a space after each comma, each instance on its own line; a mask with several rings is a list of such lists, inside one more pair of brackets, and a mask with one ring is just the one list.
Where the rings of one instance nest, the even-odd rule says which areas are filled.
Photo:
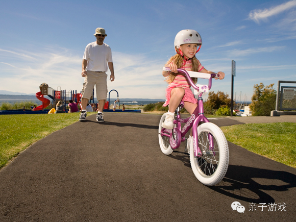
[[32, 143], [79, 121], [79, 113], [0, 115], [0, 168]]

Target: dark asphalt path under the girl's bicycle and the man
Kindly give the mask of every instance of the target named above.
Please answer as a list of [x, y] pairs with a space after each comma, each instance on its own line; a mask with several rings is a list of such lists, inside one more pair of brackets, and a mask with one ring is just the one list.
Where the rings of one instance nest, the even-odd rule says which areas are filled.
[[[99, 124], [91, 115], [34, 143], [0, 171], [0, 221], [295, 220], [295, 168], [229, 142], [226, 177], [204, 186], [183, 144], [169, 156], [161, 152], [160, 118], [105, 113]], [[247, 118], [210, 121], [221, 127]]]

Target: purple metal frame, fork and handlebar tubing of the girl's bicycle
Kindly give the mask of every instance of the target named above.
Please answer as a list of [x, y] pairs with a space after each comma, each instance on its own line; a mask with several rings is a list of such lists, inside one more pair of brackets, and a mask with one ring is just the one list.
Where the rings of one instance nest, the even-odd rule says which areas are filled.
[[[165, 68], [165, 70], [169, 71], [169, 68]], [[177, 69], [179, 72], [182, 72], [185, 74], [187, 80], [190, 82], [191, 86], [196, 89], [200, 90], [198, 86], [196, 86], [193, 81], [191, 80], [188, 72], [184, 69]], [[209, 74], [211, 77], [209, 78], [209, 89], [212, 87], [212, 78], [219, 77], [216, 73]], [[202, 98], [203, 93], [199, 94], [198, 98], [198, 107], [193, 111], [190, 117], [182, 119], [180, 115], [180, 109], [182, 109], [184, 103], [181, 101], [181, 107], [179, 106], [177, 109], [177, 119], [174, 120], [174, 125], [177, 125], [176, 128], [173, 130], [167, 130], [167, 129], [162, 129], [161, 135], [162, 136], [167, 136], [170, 137], [170, 146], [171, 149], [178, 149], [181, 141], [185, 141], [185, 135], [187, 132], [193, 127], [192, 129], [192, 138], [193, 138], [193, 150], [194, 150], [194, 156], [195, 157], [201, 157], [202, 152], [199, 147], [198, 143], [198, 126], [200, 121], [203, 122], [209, 122], [207, 117], [204, 115], [204, 104], [203, 104], [203, 98]], [[183, 104], [182, 104], [183, 103]], [[181, 123], [185, 123], [185, 126], [181, 129]], [[169, 135], [167, 134], [169, 133]], [[209, 149], [213, 150], [213, 137], [211, 134], [209, 134]]]

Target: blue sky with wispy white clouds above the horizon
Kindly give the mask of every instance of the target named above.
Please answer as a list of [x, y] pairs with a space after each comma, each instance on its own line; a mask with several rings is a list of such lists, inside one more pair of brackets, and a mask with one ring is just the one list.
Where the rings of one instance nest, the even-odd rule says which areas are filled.
[[226, 73], [211, 91], [231, 94], [232, 60], [237, 100], [241, 92], [242, 100], [251, 101], [261, 82], [277, 89], [279, 80], [296, 81], [296, 0], [0, 4], [0, 90], [36, 93], [43, 82], [81, 90], [82, 56], [97, 27], [108, 34], [115, 68], [108, 89], [116, 89], [119, 98], [165, 98], [161, 68], [175, 55], [174, 39], [183, 29], [201, 34], [196, 57], [202, 65]]

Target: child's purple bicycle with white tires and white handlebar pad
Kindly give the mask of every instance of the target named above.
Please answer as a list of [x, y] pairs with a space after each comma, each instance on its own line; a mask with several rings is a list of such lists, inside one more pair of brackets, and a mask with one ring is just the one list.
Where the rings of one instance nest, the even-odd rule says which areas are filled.
[[[164, 67], [163, 70], [170, 71]], [[190, 143], [190, 164], [195, 177], [204, 185], [213, 186], [223, 180], [229, 162], [228, 143], [221, 129], [209, 122], [204, 115], [203, 93], [206, 94], [212, 86], [212, 78], [219, 77], [217, 74], [186, 71], [178, 69], [185, 74], [186, 78], [194, 88], [194, 94], [198, 95], [198, 107], [188, 118], [181, 118], [180, 110], [184, 106], [181, 102], [177, 108], [177, 116], [174, 120], [174, 129], [168, 130], [162, 127], [166, 113], [162, 115], [159, 123], [158, 138], [161, 151], [170, 155], [173, 150], [180, 147], [185, 141], [187, 147], [186, 133], [192, 128], [192, 142]], [[208, 79], [208, 85], [195, 85], [191, 78]], [[202, 123], [203, 122], [203, 123]], [[185, 124], [181, 128], [181, 123]], [[202, 123], [200, 125], [200, 123]], [[188, 151], [187, 151], [188, 152]]]

